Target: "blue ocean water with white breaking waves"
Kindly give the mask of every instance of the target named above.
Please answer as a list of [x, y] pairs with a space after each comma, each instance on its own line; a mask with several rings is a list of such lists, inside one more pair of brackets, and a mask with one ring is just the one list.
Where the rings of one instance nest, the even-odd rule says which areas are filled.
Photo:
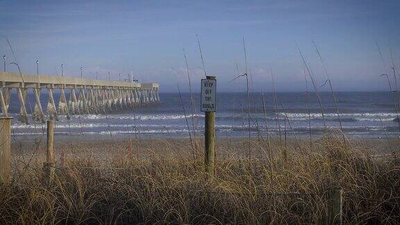
[[[388, 92], [338, 92], [338, 108], [342, 121], [342, 130], [351, 138], [396, 138], [399, 137], [399, 124], [394, 110], [397, 97]], [[32, 94], [28, 94], [31, 106], [34, 106]], [[320, 93], [324, 119], [315, 93], [279, 92], [276, 94], [277, 109], [273, 94], [265, 93], [265, 114], [261, 93], [250, 93], [251, 135], [265, 135], [266, 124], [271, 135], [281, 132], [306, 138], [309, 127], [314, 137], [324, 133], [324, 120], [328, 128], [338, 129], [340, 123], [335, 103], [330, 92]], [[41, 96], [43, 110], [47, 108], [47, 94]], [[59, 94], [55, 94], [59, 99]], [[73, 115], [66, 119], [61, 115], [55, 122], [55, 135], [65, 137], [188, 137], [192, 122], [198, 136], [203, 135], [204, 113], [199, 111], [200, 94], [194, 94], [194, 117], [190, 106], [190, 94], [160, 93], [160, 105], [123, 110], [108, 115]], [[19, 103], [15, 93], [11, 96], [10, 115], [12, 135], [15, 137], [40, 135], [45, 132], [45, 124], [18, 121]], [[183, 106], [182, 106], [183, 104]], [[27, 103], [29, 106], [29, 104]], [[27, 106], [27, 107], [28, 107]], [[183, 111], [185, 108], [185, 113]], [[310, 110], [310, 114], [308, 114]], [[28, 112], [31, 110], [28, 108]], [[186, 114], [186, 118], [185, 118]], [[288, 119], [285, 119], [288, 117]], [[216, 112], [216, 134], [219, 138], [242, 137], [248, 135], [247, 94], [218, 93]], [[266, 122], [265, 122], [266, 119]]]

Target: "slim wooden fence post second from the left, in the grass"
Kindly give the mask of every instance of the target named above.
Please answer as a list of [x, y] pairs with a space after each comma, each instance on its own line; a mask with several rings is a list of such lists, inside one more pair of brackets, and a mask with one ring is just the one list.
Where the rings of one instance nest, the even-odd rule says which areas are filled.
[[43, 163], [44, 178], [51, 183], [54, 178], [56, 168], [54, 167], [54, 152], [53, 152], [53, 120], [47, 120], [47, 148], [46, 148], [46, 163]]

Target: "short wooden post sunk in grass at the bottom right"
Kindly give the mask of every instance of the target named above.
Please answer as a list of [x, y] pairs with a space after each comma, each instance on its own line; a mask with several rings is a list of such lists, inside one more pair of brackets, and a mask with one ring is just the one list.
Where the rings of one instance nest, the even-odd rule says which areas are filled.
[[327, 215], [326, 224], [341, 225], [342, 221], [342, 206], [343, 206], [343, 190], [342, 188], [332, 188], [328, 190], [326, 199]]

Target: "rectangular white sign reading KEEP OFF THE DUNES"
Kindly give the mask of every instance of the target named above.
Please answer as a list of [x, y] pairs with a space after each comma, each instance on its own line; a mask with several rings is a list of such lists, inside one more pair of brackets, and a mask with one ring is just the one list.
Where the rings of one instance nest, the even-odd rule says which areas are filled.
[[201, 112], [215, 112], [217, 80], [201, 79]]

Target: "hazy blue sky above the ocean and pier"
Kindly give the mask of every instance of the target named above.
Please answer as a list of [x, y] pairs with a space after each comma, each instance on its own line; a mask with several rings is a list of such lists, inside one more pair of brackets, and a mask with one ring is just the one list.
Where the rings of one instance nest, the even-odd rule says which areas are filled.
[[[221, 92], [244, 91], [235, 63], [244, 72], [246, 42], [253, 91], [303, 91], [301, 51], [316, 81], [326, 76], [335, 90], [387, 90], [379, 75], [400, 69], [400, 1], [10, 1], [0, 0], [0, 54], [12, 60], [8, 37], [22, 71], [117, 79], [120, 72], [176, 92], [188, 90], [188, 56], [193, 86], [203, 78], [196, 35], [208, 74]], [[378, 53], [378, 42], [384, 63]], [[385, 67], [384, 67], [385, 65]], [[16, 68], [8, 65], [8, 71]]]

